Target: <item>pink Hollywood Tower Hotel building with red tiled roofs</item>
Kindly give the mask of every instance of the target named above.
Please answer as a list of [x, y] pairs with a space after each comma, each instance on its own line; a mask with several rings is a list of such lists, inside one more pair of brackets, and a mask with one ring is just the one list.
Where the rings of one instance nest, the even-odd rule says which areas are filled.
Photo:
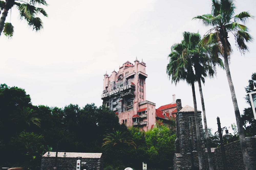
[[146, 63], [126, 61], [119, 71], [104, 74], [101, 99], [103, 105], [116, 112], [120, 124], [151, 129], [156, 120], [176, 117], [176, 101], [156, 109], [156, 104], [146, 100]]

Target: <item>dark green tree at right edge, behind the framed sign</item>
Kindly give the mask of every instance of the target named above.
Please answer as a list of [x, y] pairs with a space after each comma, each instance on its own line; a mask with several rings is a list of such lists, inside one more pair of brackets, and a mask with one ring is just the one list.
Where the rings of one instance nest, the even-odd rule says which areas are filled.
[[[251, 80], [248, 81], [248, 86], [245, 87], [246, 93], [250, 93], [254, 89], [256, 82], [256, 73], [253, 73], [251, 75]], [[254, 85], [253, 85], [254, 83]], [[241, 115], [242, 121], [243, 121], [243, 126], [246, 130], [246, 136], [256, 136], [256, 121], [253, 116], [253, 111], [252, 111], [252, 104], [250, 100], [249, 94], [246, 95], [245, 97], [246, 102], [249, 104], [248, 108], [245, 108], [243, 110], [243, 114]]]

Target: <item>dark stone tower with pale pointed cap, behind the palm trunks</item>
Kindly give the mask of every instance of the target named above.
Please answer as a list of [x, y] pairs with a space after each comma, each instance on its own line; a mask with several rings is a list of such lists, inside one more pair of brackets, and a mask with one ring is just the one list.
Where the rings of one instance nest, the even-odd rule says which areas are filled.
[[[187, 155], [188, 152], [193, 150], [195, 146], [196, 151], [198, 149], [203, 149], [204, 144], [201, 143], [201, 148], [197, 148], [197, 135], [196, 135], [196, 124], [195, 124], [195, 112], [194, 108], [190, 106], [185, 106], [181, 109], [181, 100], [176, 100], [177, 115], [176, 115], [176, 140], [175, 140], [175, 150], [176, 155], [174, 157], [174, 169], [181, 170], [183, 167], [185, 169], [191, 169], [192, 160], [194, 166], [198, 167], [198, 155], [197, 153], [193, 155], [193, 158], [190, 158]], [[179, 110], [180, 109], [180, 110]], [[179, 110], [179, 111], [178, 111]], [[201, 111], [198, 111], [198, 115], [201, 116]], [[190, 121], [191, 120], [191, 121]], [[202, 129], [202, 119], [199, 119], [199, 128], [200, 128], [200, 137], [203, 136]]]

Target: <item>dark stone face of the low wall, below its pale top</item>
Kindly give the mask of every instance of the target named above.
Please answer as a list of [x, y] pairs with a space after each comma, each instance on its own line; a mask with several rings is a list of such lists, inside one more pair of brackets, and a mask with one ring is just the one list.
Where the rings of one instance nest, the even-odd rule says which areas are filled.
[[[99, 158], [82, 158], [81, 169], [102, 170], [102, 160]], [[42, 157], [41, 170], [52, 170], [55, 163], [55, 157]], [[76, 170], [77, 158], [57, 158], [57, 170]]]

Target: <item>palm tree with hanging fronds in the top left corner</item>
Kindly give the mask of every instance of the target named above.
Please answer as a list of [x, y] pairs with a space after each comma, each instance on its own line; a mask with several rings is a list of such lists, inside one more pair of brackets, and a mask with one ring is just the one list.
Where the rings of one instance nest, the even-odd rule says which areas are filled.
[[45, 5], [45, 0], [5, 0], [0, 1], [0, 12], [2, 12], [2, 16], [0, 19], [0, 36], [2, 31], [4, 34], [8, 37], [13, 36], [14, 27], [11, 23], [6, 22], [5, 19], [7, 17], [9, 9], [12, 9], [14, 6], [16, 6], [19, 10], [20, 18], [25, 19], [30, 27], [33, 28], [33, 30], [39, 31], [43, 28], [42, 20], [37, 17], [39, 13], [41, 13], [43, 16], [48, 17], [46, 11], [43, 8], [35, 7], [35, 5]]

